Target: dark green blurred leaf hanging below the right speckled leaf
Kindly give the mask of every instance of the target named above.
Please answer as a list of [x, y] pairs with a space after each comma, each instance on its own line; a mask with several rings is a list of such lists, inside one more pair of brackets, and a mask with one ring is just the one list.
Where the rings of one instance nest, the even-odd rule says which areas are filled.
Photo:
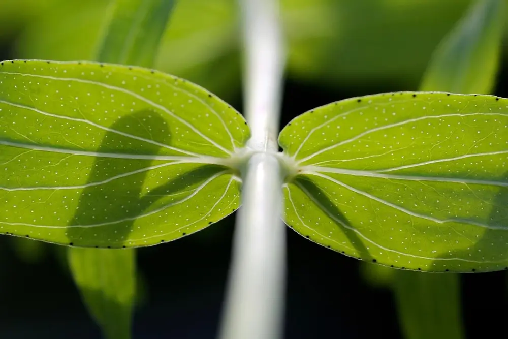
[[397, 274], [393, 287], [404, 337], [463, 338], [461, 310], [457, 307], [460, 305], [458, 276], [400, 273], [403, 274]]

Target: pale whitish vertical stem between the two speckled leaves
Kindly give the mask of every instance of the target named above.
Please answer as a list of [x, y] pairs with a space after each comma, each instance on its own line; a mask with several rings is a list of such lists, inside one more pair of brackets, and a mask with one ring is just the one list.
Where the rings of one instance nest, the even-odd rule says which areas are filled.
[[221, 339], [276, 339], [282, 335], [285, 227], [278, 150], [284, 50], [275, 0], [240, 0], [245, 50], [245, 115], [257, 153], [242, 173]]

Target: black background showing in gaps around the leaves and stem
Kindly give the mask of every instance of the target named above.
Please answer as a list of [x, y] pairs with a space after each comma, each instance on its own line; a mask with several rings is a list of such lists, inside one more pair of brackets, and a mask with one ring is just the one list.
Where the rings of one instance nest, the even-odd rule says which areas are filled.
[[[17, 33], [4, 37], [0, 59], [17, 56], [13, 47]], [[501, 62], [495, 90], [501, 97], [508, 97], [507, 61]], [[332, 101], [413, 89], [389, 80], [349, 89], [287, 80], [281, 126], [308, 109]], [[240, 96], [229, 102], [242, 110]], [[138, 250], [142, 291], [134, 318], [135, 338], [215, 337], [234, 220], [235, 215], [231, 215], [196, 235]], [[402, 337], [392, 293], [369, 285], [360, 274], [357, 260], [316, 245], [289, 228], [287, 239], [286, 338]], [[0, 337], [100, 338], [98, 326], [90, 319], [62, 264], [61, 249], [44, 244], [37, 260], [23, 259], [15, 249], [11, 237], [0, 237]], [[506, 337], [506, 272], [462, 274], [461, 284], [467, 338], [488, 337], [491, 330], [497, 337]]]

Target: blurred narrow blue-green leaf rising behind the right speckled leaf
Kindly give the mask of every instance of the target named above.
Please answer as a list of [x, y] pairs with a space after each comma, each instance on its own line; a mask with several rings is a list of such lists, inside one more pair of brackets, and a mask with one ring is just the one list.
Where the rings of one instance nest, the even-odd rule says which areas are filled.
[[504, 0], [481, 0], [434, 52], [420, 90], [488, 94], [499, 65], [505, 18]]

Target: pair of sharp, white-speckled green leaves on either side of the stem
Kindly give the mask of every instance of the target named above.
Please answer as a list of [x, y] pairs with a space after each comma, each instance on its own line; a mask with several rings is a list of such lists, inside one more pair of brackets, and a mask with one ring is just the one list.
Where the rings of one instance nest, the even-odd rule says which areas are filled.
[[[508, 100], [389, 93], [306, 112], [279, 136], [285, 222], [329, 248], [426, 271], [508, 266]], [[0, 230], [145, 246], [240, 205], [243, 117], [142, 68], [5, 61]]]

